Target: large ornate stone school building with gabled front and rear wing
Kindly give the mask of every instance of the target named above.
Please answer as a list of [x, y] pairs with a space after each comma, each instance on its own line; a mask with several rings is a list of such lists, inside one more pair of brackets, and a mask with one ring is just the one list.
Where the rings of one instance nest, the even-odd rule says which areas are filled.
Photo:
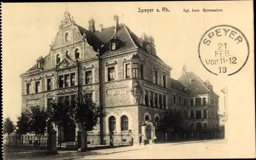
[[[106, 114], [92, 132], [131, 129], [135, 142], [139, 133], [152, 139], [169, 108], [182, 111], [187, 127], [219, 125], [213, 116], [219, 96], [212, 85], [201, 82], [194, 73], [186, 73], [185, 68], [178, 81], [170, 78], [172, 68], [157, 56], [152, 36], [143, 33], [137, 37], [119, 24], [117, 15], [108, 28], [99, 25], [96, 30], [94, 19], [88, 22], [88, 29], [77, 25], [66, 10], [49, 54], [40, 56], [20, 75], [23, 109], [47, 106], [55, 98], [72, 100], [76, 93], [86, 93]], [[193, 82], [187, 82], [189, 78]], [[63, 137], [74, 136], [76, 131], [70, 128]]]

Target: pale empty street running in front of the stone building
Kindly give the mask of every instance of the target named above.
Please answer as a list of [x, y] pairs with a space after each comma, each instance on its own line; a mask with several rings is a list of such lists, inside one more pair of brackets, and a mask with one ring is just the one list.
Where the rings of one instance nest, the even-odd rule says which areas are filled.
[[138, 150], [84, 157], [79, 159], [153, 159], [153, 158], [227, 158], [225, 141], [190, 144], [152, 144]]

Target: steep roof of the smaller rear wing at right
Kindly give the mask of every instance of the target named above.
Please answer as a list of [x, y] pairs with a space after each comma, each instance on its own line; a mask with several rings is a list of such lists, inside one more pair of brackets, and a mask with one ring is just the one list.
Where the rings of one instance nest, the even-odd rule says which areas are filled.
[[216, 94], [213, 90], [210, 90], [202, 79], [200, 79], [194, 72], [186, 72], [186, 74], [182, 74], [178, 81], [194, 93], [211, 92]]

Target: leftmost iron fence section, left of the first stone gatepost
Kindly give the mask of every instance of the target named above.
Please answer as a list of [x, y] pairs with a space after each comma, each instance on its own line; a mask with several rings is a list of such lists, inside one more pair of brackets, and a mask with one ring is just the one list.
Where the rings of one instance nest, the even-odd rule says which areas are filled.
[[3, 147], [5, 152], [35, 152], [47, 151], [48, 135], [20, 135], [4, 136]]

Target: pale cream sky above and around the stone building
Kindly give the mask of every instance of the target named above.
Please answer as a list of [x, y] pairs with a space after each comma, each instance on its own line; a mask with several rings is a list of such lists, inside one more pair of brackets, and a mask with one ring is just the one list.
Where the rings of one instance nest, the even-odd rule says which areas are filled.
[[[254, 83], [251, 83], [253, 75], [251, 72], [249, 75], [249, 71], [252, 71], [252, 57], [240, 71], [240, 75], [237, 74], [231, 78], [216, 76], [206, 71], [201, 64], [198, 58], [198, 44], [209, 28], [219, 24], [237, 26], [249, 36], [249, 40], [252, 40], [251, 26], [243, 25], [243, 22], [246, 24], [251, 20], [244, 18], [244, 14], [250, 15], [251, 11], [243, 10], [243, 14], [236, 14], [244, 3], [228, 5], [218, 4], [224, 2], [199, 3], [4, 3], [2, 8], [3, 116], [16, 119], [20, 113], [21, 79], [19, 75], [34, 65], [39, 56], [48, 55], [49, 44], [54, 41], [66, 7], [76, 24], [85, 28], [88, 28], [90, 17], [95, 19], [97, 30], [99, 24], [103, 24], [103, 28], [110, 27], [113, 25], [113, 16], [116, 14], [120, 17], [119, 22], [124, 22], [138, 37], [143, 32], [152, 35], [155, 39], [157, 55], [173, 68], [171, 77], [178, 79], [182, 73], [182, 66], [186, 65], [187, 72], [196, 73], [203, 81], [208, 79], [214, 86], [214, 91], [220, 96], [219, 106], [223, 112], [224, 94], [220, 91], [222, 88], [228, 84], [236, 88], [239, 84], [247, 84], [247, 82], [254, 86]], [[207, 6], [213, 9], [221, 7], [225, 14], [183, 12], [183, 9], [203, 9]], [[169, 12], [156, 12], [157, 8], [162, 7], [167, 7]], [[138, 8], [154, 9], [154, 12], [141, 13], [138, 12]], [[235, 16], [230, 16], [231, 14]], [[241, 79], [241, 76], [248, 75], [251, 77]]]

